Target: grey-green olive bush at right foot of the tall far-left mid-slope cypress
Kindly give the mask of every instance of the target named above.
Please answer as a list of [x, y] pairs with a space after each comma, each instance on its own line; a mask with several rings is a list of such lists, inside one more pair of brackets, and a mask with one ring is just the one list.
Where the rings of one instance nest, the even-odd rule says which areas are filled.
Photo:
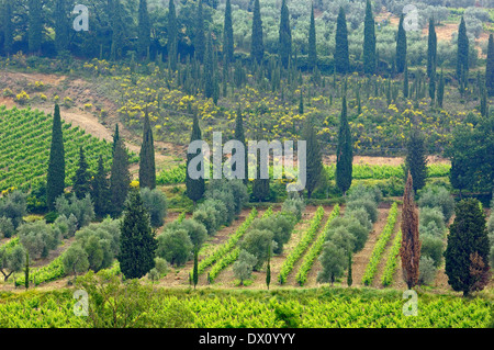
[[81, 200], [77, 199], [75, 193], [72, 193], [70, 200], [60, 195], [55, 200], [55, 210], [58, 215], [65, 215], [66, 217], [74, 214], [77, 218], [78, 228], [89, 225], [94, 219], [94, 206], [89, 193]]

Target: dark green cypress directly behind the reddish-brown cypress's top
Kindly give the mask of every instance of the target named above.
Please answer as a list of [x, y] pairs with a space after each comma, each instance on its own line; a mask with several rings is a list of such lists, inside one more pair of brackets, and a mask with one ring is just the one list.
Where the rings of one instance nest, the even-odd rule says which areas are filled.
[[412, 174], [414, 191], [420, 190], [427, 178], [427, 149], [425, 138], [414, 128], [406, 144], [405, 173]]

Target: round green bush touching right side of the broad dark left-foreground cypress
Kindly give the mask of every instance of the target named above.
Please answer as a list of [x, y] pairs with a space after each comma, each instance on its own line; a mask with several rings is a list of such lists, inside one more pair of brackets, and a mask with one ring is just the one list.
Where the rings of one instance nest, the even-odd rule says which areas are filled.
[[158, 236], [156, 255], [170, 264], [184, 264], [192, 255], [193, 244], [184, 229], [166, 229]]

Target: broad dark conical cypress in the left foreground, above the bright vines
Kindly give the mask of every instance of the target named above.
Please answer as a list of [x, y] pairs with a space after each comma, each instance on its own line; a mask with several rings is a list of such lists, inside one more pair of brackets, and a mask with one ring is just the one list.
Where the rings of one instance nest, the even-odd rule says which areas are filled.
[[141, 279], [155, 267], [158, 242], [138, 190], [128, 194], [121, 226], [117, 260], [126, 279]]

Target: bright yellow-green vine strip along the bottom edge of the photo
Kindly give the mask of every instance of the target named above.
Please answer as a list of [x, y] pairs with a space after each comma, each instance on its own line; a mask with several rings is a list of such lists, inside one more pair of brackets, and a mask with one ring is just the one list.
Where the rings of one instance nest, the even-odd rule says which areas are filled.
[[[287, 323], [277, 317], [277, 309], [293, 311], [301, 328], [484, 328], [492, 317], [492, 300], [457, 298], [445, 295], [418, 295], [418, 315], [406, 316], [406, 300], [401, 295], [344, 298], [322, 293], [294, 293], [277, 300], [265, 293], [232, 295], [221, 291], [206, 294], [164, 290], [149, 292], [153, 313], [146, 315], [147, 327], [168, 324], [170, 309], [190, 315], [193, 328], [279, 328]], [[83, 328], [89, 317], [74, 313], [77, 302], [72, 290], [57, 292], [25, 292], [11, 295], [0, 303], [1, 328]], [[161, 326], [159, 326], [161, 325]], [[173, 326], [171, 326], [173, 327]]]

